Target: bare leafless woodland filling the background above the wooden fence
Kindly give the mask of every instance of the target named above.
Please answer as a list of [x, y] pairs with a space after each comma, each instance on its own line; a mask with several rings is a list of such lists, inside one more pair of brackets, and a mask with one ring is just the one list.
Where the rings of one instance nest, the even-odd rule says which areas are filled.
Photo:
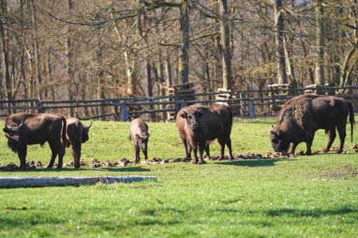
[[357, 0], [0, 0], [0, 98], [357, 85]]

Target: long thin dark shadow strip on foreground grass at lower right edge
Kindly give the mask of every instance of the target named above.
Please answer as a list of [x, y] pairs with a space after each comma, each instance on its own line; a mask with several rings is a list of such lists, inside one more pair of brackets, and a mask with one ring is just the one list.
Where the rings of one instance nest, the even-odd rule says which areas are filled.
[[344, 215], [344, 214], [357, 214], [358, 209], [351, 209], [349, 207], [342, 207], [338, 209], [275, 209], [266, 211], [268, 216], [292, 216], [292, 217], [300, 217], [300, 216], [311, 216], [315, 218], [319, 218], [322, 216], [334, 216], [334, 215]]

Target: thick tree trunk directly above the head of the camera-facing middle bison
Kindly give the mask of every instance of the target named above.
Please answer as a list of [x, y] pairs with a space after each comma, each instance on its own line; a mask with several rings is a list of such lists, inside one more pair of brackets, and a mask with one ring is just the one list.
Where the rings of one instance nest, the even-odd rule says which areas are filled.
[[179, 84], [189, 82], [189, 9], [188, 0], [180, 0]]

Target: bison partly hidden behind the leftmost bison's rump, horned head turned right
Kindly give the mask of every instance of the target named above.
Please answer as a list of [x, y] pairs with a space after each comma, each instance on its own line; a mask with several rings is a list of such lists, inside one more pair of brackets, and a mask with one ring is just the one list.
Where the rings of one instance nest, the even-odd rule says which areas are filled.
[[72, 146], [72, 157], [74, 158], [74, 167], [78, 169], [81, 167], [81, 144], [90, 139], [88, 132], [92, 123], [88, 127], [82, 125], [81, 121], [76, 118], [66, 118], [67, 121], [67, 134], [66, 146]]

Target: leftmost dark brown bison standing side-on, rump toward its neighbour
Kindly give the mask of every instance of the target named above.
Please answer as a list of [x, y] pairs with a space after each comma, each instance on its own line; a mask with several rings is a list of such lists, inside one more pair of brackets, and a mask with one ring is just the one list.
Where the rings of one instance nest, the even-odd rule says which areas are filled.
[[8, 147], [17, 152], [20, 169], [26, 169], [27, 145], [50, 145], [52, 156], [48, 168], [53, 167], [58, 155], [57, 169], [62, 168], [64, 144], [66, 141], [66, 119], [48, 113], [16, 113], [5, 119], [5, 136]]

